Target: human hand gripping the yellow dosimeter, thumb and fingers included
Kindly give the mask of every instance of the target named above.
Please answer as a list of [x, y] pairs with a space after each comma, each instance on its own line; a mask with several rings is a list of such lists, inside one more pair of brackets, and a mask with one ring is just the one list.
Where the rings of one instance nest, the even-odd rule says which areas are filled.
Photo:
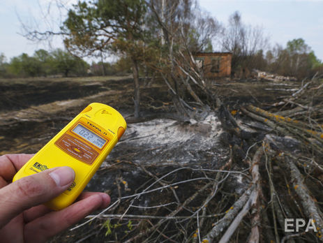
[[75, 172], [67, 166], [52, 168], [11, 183], [15, 173], [32, 156], [0, 156], [1, 242], [45, 242], [94, 210], [110, 204], [107, 194], [87, 192], [57, 212], [42, 205], [68, 189]]

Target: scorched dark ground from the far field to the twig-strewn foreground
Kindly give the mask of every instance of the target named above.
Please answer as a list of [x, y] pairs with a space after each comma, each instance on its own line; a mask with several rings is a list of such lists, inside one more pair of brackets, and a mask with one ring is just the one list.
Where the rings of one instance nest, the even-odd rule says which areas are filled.
[[[270, 112], [295, 108], [290, 103], [273, 104], [290, 98], [300, 90], [301, 82], [214, 82], [211, 89], [223, 105], [205, 109], [189, 102], [200, 111], [199, 121], [181, 121], [176, 116], [174, 119], [172, 98], [165, 84], [158, 81], [142, 85], [142, 120], [132, 117], [133, 80], [129, 78], [3, 80], [0, 87], [1, 154], [37, 152], [91, 102], [111, 105], [128, 121], [123, 138], [87, 186], [87, 190], [109, 193], [113, 207], [100, 216], [96, 216], [99, 212], [93, 214], [91, 217], [96, 219], [91, 224], [66, 230], [53, 242], [198, 242], [203, 236], [217, 242], [227, 230], [227, 219], [234, 219], [239, 212], [234, 210], [241, 209], [239, 203], [248, 204], [247, 196], [253, 191], [249, 185], [260, 183], [254, 181], [256, 164], [263, 185], [261, 200], [257, 200], [257, 207], [262, 208], [261, 241], [286, 237], [282, 226], [275, 225], [281, 219], [276, 219], [277, 222], [273, 219], [279, 218], [278, 202], [287, 216], [306, 217], [299, 202], [301, 196], [286, 188], [286, 184], [291, 188], [294, 185], [293, 177], [283, 171], [290, 167], [268, 161], [281, 160], [284, 156], [281, 152], [301, 154], [303, 162], [308, 158], [315, 161], [317, 157], [308, 155], [316, 153], [315, 149], [304, 147], [297, 135], [276, 131], [266, 124], [268, 121], [248, 115], [252, 111], [254, 115], [262, 115], [260, 108]], [[319, 84], [315, 83], [311, 88], [315, 91], [317, 87]], [[320, 105], [322, 92], [315, 94], [310, 104]], [[186, 100], [190, 101], [188, 95]], [[255, 105], [258, 110], [248, 105]], [[320, 112], [313, 119], [320, 121]], [[261, 141], [267, 143], [262, 145]], [[257, 161], [260, 149], [264, 149], [266, 156]], [[318, 193], [322, 191], [321, 174], [313, 170], [313, 167], [301, 168], [308, 175], [306, 184], [315, 200], [321, 202], [323, 198]], [[272, 180], [277, 182], [274, 185], [280, 200], [271, 203]], [[253, 208], [246, 221], [239, 224], [232, 237], [236, 240], [232, 242], [248, 239], [257, 210]], [[217, 229], [217, 225], [222, 228]], [[213, 228], [217, 235], [211, 237]], [[315, 234], [299, 235], [298, 242], [317, 239]]]

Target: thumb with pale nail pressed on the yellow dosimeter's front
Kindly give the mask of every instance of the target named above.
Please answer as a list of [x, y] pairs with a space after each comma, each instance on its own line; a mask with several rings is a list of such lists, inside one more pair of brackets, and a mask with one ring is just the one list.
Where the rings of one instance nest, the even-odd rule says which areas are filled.
[[25, 209], [59, 196], [74, 178], [74, 170], [63, 166], [23, 177], [0, 189], [0, 228]]

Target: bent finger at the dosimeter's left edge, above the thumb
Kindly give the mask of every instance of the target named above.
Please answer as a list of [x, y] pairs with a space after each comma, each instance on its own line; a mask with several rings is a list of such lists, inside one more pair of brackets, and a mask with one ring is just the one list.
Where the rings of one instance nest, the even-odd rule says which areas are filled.
[[11, 181], [22, 165], [24, 165], [33, 154], [6, 154], [0, 156], [0, 177], [7, 182]]

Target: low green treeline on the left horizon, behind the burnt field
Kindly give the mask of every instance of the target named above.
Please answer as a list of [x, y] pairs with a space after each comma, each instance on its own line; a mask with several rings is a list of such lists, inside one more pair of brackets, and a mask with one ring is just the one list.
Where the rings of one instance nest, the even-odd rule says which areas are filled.
[[10, 61], [0, 54], [0, 78], [115, 75], [127, 72], [130, 72], [130, 66], [126, 59], [121, 58], [115, 63], [98, 61], [90, 65], [61, 49], [52, 52], [40, 49], [32, 56], [23, 53]]

